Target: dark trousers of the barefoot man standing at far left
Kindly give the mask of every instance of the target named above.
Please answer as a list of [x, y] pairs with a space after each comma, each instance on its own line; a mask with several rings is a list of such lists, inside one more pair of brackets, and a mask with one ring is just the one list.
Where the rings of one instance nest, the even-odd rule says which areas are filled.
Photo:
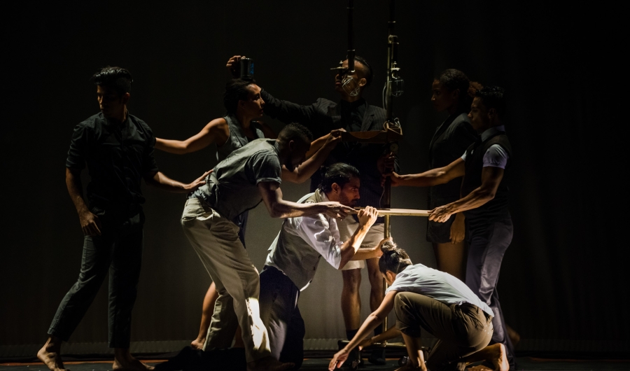
[[68, 341], [109, 271], [109, 346], [129, 348], [144, 239], [144, 214], [139, 207], [134, 210], [135, 215], [122, 218], [92, 209], [102, 223], [102, 235], [83, 239], [78, 279], [59, 304], [49, 335]]

